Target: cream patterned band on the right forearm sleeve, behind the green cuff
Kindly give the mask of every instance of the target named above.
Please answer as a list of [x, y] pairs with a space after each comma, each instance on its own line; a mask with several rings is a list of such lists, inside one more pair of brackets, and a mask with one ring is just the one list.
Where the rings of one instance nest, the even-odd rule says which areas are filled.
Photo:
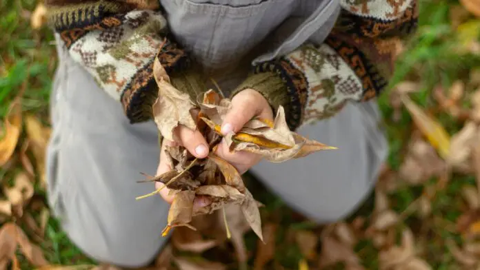
[[305, 74], [308, 81], [308, 98], [301, 125], [332, 116], [348, 100], [361, 101], [361, 81], [328, 45], [315, 47], [306, 44], [285, 59]]

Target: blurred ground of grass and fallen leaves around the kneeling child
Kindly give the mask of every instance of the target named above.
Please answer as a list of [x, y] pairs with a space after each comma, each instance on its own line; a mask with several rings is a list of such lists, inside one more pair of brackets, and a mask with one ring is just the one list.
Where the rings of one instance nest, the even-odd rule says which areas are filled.
[[[69, 242], [46, 206], [43, 151], [57, 55], [36, 7], [0, 2], [0, 269], [91, 269], [99, 262]], [[480, 269], [480, 1], [422, 0], [420, 8], [418, 33], [399, 47], [397, 72], [379, 100], [388, 167], [356, 214], [319, 227], [250, 180], [267, 204], [266, 245], [252, 232], [242, 251], [241, 242], [183, 231], [152, 267]]]

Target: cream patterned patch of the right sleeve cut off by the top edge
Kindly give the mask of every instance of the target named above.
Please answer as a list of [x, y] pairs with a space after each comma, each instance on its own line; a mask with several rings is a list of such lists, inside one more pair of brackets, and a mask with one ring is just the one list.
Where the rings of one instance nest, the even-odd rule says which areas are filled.
[[341, 0], [340, 6], [359, 17], [392, 21], [403, 16], [412, 0]]

